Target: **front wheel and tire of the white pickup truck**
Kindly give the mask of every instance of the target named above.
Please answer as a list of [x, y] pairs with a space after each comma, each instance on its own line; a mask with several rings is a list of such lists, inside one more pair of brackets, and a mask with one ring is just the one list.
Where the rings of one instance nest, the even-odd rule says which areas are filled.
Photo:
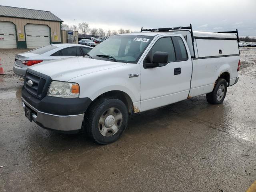
[[87, 134], [98, 144], [109, 144], [120, 138], [127, 127], [128, 109], [115, 98], [99, 98], [84, 117]]

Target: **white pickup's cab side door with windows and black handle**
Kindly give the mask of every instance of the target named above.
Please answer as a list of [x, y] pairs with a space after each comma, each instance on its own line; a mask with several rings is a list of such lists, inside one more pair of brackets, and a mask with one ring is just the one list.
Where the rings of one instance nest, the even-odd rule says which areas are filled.
[[[140, 111], [165, 106], [188, 97], [192, 62], [181, 37], [164, 36], [156, 39], [140, 63]], [[168, 62], [155, 68], [146, 68], [154, 53], [167, 52]]]

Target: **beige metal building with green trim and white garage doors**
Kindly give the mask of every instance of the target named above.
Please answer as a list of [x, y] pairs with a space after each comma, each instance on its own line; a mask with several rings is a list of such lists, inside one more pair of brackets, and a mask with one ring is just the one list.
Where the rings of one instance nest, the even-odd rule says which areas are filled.
[[0, 6], [0, 48], [61, 43], [63, 21], [49, 11]]

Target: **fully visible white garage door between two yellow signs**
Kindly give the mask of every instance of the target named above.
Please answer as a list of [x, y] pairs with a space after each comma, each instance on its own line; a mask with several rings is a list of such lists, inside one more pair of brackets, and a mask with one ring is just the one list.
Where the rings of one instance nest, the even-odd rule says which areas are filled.
[[50, 29], [46, 25], [26, 24], [27, 48], [38, 48], [50, 44]]

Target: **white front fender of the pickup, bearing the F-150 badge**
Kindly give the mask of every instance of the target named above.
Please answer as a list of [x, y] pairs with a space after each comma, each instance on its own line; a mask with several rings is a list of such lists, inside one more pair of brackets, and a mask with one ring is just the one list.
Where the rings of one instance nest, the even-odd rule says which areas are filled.
[[131, 66], [132, 64], [86, 74], [72, 79], [72, 82], [79, 84], [81, 98], [88, 97], [94, 100], [101, 94], [118, 90], [128, 94], [133, 103], [140, 102], [140, 76], [129, 78], [129, 73], [138, 71]]

